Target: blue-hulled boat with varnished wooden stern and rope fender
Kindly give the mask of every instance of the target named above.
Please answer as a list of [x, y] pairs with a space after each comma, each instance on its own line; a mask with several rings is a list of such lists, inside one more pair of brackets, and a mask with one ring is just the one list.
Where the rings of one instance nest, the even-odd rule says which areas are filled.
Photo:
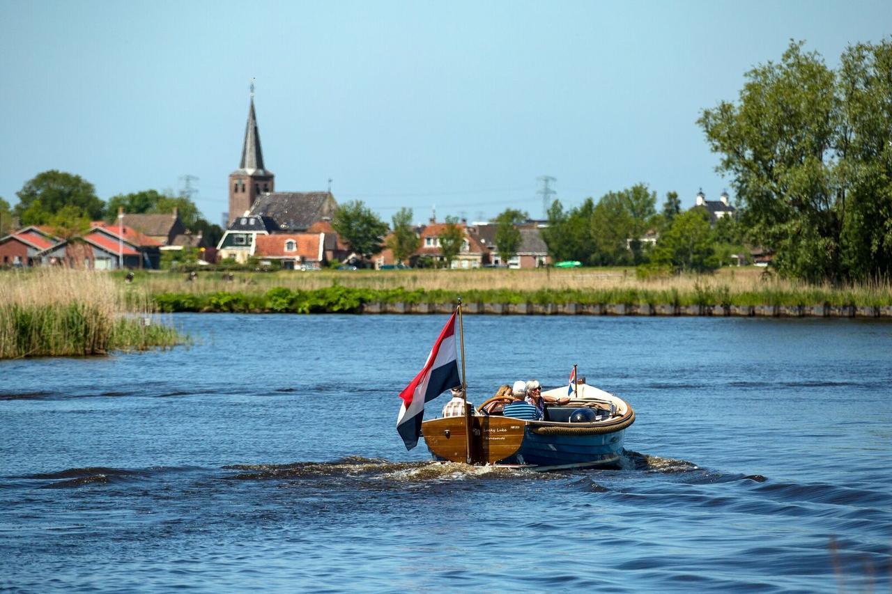
[[[542, 395], [566, 396], [567, 386]], [[478, 414], [467, 417], [467, 422], [466, 417], [428, 419], [422, 423], [421, 433], [427, 448], [438, 460], [469, 460], [472, 464], [534, 470], [619, 466], [625, 430], [635, 422], [632, 407], [625, 400], [588, 384], [577, 384], [571, 399], [562, 406], [546, 405], [546, 416], [541, 421], [480, 414], [487, 404], [484, 402], [478, 407]], [[580, 409], [590, 409], [594, 415], [574, 415]], [[466, 406], [466, 412], [470, 410]]]

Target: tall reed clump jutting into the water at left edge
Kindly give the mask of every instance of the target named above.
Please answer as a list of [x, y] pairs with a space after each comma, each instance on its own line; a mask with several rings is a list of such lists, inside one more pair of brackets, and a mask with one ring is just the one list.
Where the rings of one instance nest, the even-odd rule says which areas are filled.
[[103, 355], [182, 342], [145, 291], [61, 268], [0, 276], [0, 359]]

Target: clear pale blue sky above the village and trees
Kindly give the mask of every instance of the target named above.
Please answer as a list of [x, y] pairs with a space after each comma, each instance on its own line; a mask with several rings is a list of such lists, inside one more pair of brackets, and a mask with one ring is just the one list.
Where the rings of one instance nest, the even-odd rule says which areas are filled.
[[[179, 191], [227, 210], [249, 81], [279, 191], [385, 220], [541, 217], [646, 183], [692, 206], [731, 180], [696, 120], [790, 39], [830, 66], [892, 33], [892, 3], [0, 0], [0, 197], [46, 169], [107, 200]], [[733, 196], [732, 196], [733, 198]]]

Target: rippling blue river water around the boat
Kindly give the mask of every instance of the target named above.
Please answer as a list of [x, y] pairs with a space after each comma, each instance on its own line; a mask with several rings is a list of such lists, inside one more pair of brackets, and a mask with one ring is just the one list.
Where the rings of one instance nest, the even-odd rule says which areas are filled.
[[890, 324], [467, 317], [471, 400], [578, 363], [636, 410], [623, 470], [535, 474], [403, 448], [444, 316], [173, 320], [0, 362], [0, 589], [892, 588]]

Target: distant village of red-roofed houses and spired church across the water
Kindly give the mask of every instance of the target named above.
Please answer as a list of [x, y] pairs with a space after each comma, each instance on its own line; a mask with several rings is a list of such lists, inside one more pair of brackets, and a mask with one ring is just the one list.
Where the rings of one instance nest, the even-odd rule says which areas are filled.
[[[52, 227], [30, 226], [0, 238], [0, 262], [4, 267], [66, 265], [74, 268], [161, 268], [165, 252], [194, 249], [202, 263], [221, 260], [238, 264], [256, 262], [267, 269], [308, 270], [342, 264], [368, 268], [449, 266], [450, 268], [540, 268], [554, 264], [541, 230], [548, 221], [527, 219], [515, 225], [519, 232], [516, 251], [502, 261], [496, 248], [497, 225], [489, 221], [437, 221], [431, 217], [414, 227], [417, 250], [398, 261], [387, 247], [370, 258], [351, 251], [335, 232], [332, 220], [338, 203], [330, 191], [281, 192], [276, 176], [266, 169], [253, 94], [238, 169], [228, 176], [227, 226], [219, 243], [208, 244], [201, 233], [191, 232], [175, 209], [169, 214], [132, 214], [119, 211], [116, 222], [94, 221], [86, 233], [62, 238]], [[731, 216], [734, 207], [723, 193], [707, 201], [698, 193], [695, 208], [705, 208], [714, 223]], [[447, 227], [458, 227], [462, 241], [458, 253], [444, 256], [441, 236]], [[658, 234], [638, 239], [657, 243]], [[632, 238], [629, 240], [632, 241]], [[504, 255], [504, 254], [503, 254]]]

